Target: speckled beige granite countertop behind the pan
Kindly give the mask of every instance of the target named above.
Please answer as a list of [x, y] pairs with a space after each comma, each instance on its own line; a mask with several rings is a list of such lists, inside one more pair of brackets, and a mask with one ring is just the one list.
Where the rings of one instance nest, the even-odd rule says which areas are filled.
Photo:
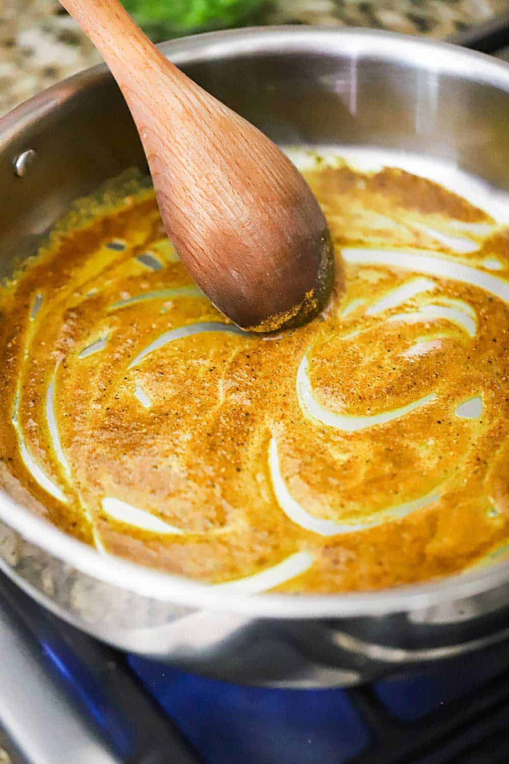
[[[509, 0], [274, 0], [262, 21], [375, 27], [445, 38], [507, 11]], [[56, 0], [0, 0], [0, 116], [100, 60]]]

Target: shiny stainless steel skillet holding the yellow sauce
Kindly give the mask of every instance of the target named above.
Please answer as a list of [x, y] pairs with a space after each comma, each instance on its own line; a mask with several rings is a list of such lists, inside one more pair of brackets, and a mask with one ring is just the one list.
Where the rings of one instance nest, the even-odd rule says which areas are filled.
[[[509, 192], [504, 63], [317, 28], [208, 34], [163, 50], [279, 143], [408, 151]], [[2, 119], [0, 275], [33, 254], [72, 199], [132, 165], [144, 167], [143, 152], [104, 67]], [[0, 566], [51, 610], [123, 649], [233, 681], [348, 684], [509, 636], [505, 562], [391, 591], [247, 597], [98, 555], [6, 494], [0, 520]]]

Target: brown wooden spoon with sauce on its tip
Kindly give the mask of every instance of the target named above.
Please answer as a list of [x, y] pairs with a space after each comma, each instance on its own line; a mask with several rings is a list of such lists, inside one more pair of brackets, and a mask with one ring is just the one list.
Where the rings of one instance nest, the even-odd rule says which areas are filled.
[[166, 233], [205, 294], [252, 331], [315, 316], [330, 294], [333, 248], [294, 165], [173, 66], [118, 0], [61, 2], [124, 94]]

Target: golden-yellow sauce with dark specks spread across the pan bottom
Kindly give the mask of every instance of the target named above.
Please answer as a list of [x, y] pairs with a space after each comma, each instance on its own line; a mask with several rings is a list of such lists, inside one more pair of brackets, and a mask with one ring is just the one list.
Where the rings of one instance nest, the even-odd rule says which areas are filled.
[[75, 206], [0, 297], [8, 493], [243, 591], [385, 588], [504, 548], [509, 228], [403, 170], [307, 165], [345, 287], [265, 337], [192, 283], [135, 174]]

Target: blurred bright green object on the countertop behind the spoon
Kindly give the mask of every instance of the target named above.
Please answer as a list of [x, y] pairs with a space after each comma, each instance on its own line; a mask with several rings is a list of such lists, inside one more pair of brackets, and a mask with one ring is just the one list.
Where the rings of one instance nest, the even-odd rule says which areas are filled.
[[[122, 0], [155, 42], [192, 32], [253, 23], [268, 0]], [[258, 18], [257, 18], [258, 17]]]

